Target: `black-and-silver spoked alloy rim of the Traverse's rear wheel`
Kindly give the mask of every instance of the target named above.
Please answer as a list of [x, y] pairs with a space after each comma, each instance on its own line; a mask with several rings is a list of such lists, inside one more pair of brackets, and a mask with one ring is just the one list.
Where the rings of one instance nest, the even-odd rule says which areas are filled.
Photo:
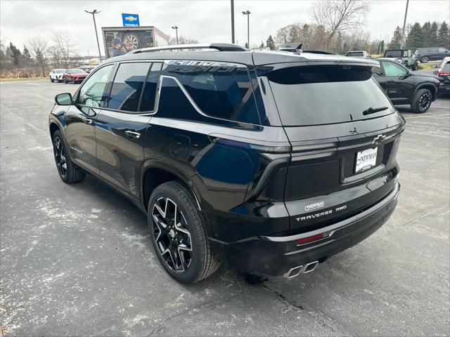
[[174, 201], [160, 197], [152, 209], [153, 235], [158, 251], [174, 272], [185, 272], [192, 261], [191, 233]]

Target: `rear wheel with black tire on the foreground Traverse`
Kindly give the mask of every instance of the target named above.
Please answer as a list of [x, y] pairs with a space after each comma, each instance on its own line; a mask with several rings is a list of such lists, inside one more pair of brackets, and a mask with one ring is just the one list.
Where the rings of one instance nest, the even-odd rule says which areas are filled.
[[219, 268], [205, 220], [192, 194], [180, 182], [169, 181], [153, 190], [148, 201], [148, 226], [160, 263], [176, 281], [198, 282]]

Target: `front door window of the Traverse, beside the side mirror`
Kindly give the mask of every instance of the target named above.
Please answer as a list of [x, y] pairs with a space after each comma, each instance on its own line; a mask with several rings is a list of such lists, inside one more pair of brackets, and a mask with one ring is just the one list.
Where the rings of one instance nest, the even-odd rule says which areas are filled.
[[87, 105], [88, 107], [103, 106], [105, 102], [105, 87], [108, 84], [108, 79], [113, 68], [114, 65], [102, 67], [84, 82], [82, 88], [79, 90], [78, 104]]

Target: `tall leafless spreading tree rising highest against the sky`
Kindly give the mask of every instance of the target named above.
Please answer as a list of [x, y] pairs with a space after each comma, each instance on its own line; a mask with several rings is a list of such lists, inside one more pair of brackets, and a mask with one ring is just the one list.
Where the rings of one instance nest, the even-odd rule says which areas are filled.
[[369, 3], [364, 0], [323, 0], [314, 2], [311, 6], [311, 16], [318, 26], [326, 29], [327, 48], [338, 32], [364, 25], [368, 9]]

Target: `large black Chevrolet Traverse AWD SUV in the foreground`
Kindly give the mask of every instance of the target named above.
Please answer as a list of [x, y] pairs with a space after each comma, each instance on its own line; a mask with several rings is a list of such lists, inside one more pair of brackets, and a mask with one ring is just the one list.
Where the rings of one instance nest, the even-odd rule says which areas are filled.
[[371, 77], [378, 63], [165, 48], [106, 60], [56, 96], [49, 123], [60, 178], [90, 173], [146, 212], [174, 279], [219, 262], [294, 277], [390, 217], [405, 121]]

